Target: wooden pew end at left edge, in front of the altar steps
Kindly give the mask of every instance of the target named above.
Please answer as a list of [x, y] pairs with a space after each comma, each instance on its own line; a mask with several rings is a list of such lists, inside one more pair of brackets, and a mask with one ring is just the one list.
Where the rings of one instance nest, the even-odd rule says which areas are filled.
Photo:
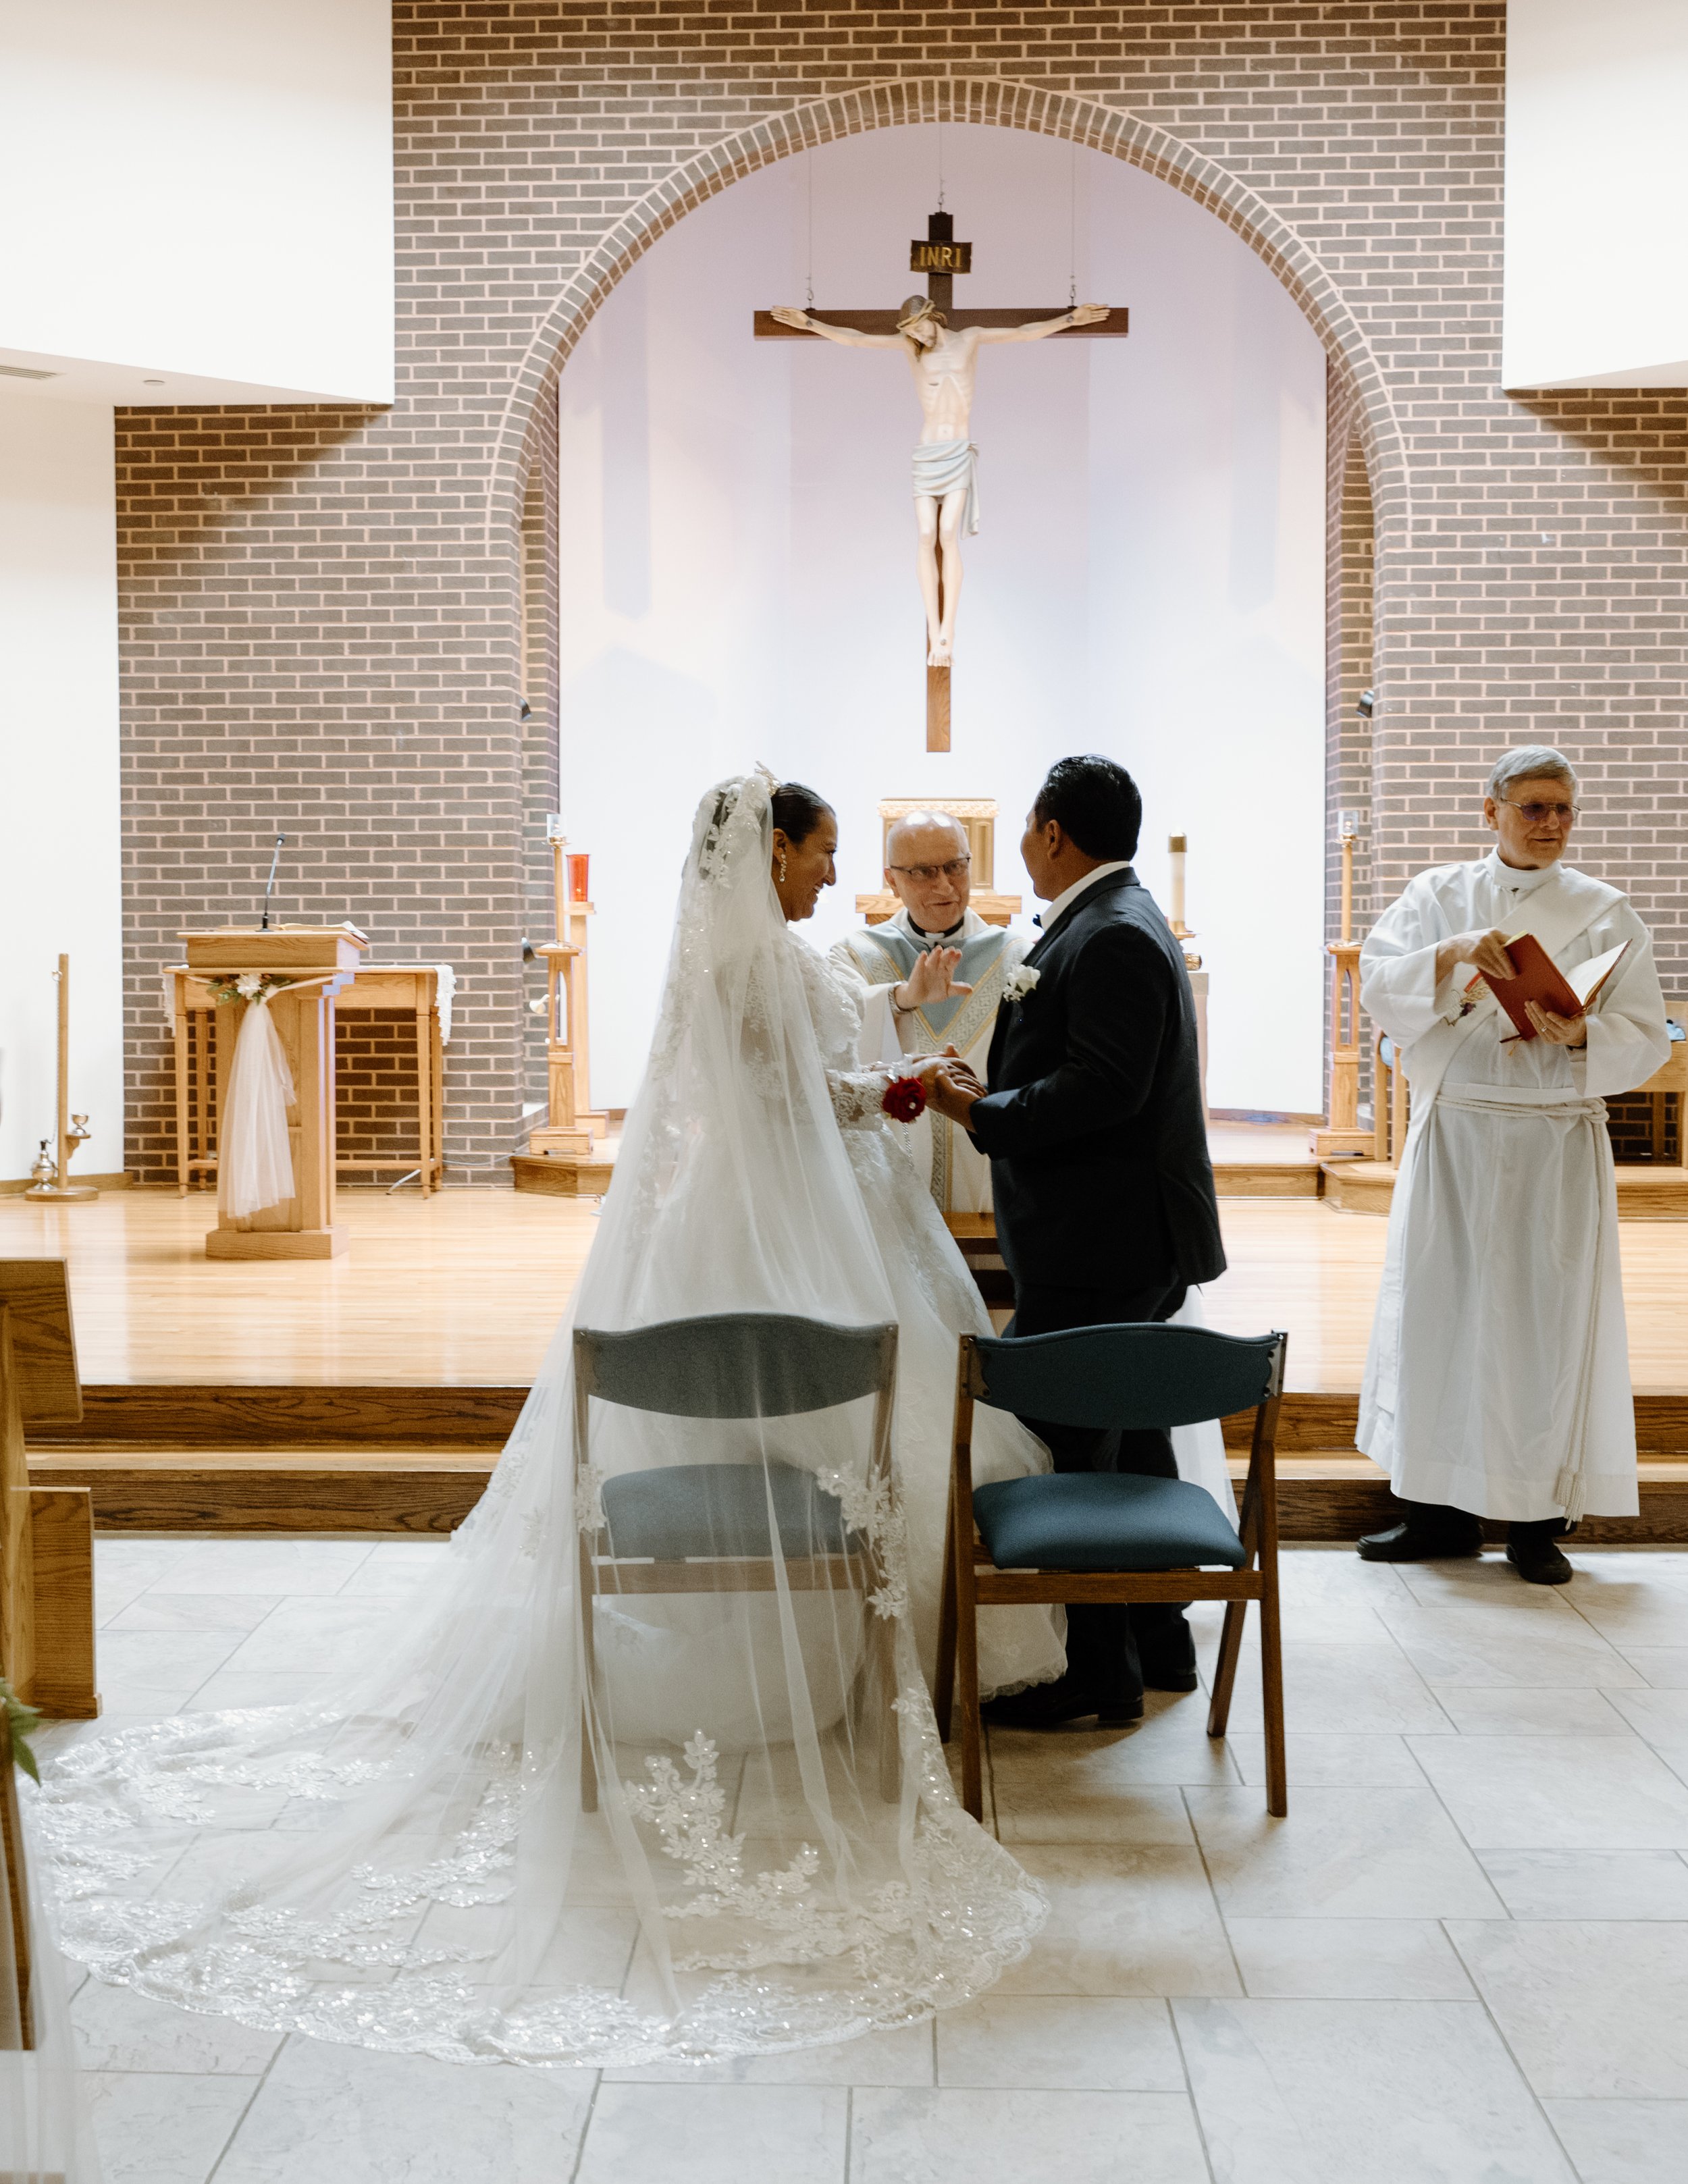
[[0, 1673], [28, 1706], [92, 1721], [94, 1498], [31, 1487], [24, 1455], [26, 1426], [81, 1415], [66, 1262], [0, 1260]]

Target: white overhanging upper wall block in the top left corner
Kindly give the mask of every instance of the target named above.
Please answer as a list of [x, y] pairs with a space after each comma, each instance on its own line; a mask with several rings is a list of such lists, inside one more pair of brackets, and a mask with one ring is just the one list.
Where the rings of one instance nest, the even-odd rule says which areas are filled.
[[391, 402], [391, 146], [387, 0], [0, 0], [0, 363]]

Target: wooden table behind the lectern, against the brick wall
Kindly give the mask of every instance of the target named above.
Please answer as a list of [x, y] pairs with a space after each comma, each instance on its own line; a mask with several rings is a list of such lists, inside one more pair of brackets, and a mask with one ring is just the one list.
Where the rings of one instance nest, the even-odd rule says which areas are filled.
[[[216, 1175], [216, 1099], [210, 1026], [216, 1002], [203, 978], [186, 963], [170, 963], [170, 1018], [177, 1064], [177, 1197], [188, 1197], [194, 1175]], [[334, 996], [336, 1018], [376, 1009], [411, 1009], [417, 1046], [415, 1155], [362, 1160], [336, 1153], [336, 1168], [397, 1168], [419, 1173], [421, 1195], [439, 1190], [445, 1171], [445, 1042], [439, 1020], [437, 963], [358, 965], [352, 983]]]

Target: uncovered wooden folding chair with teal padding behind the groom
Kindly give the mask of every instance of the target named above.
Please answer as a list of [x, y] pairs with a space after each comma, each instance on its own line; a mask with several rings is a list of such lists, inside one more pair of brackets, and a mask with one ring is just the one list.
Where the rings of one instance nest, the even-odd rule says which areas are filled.
[[[950, 1524], [937, 1642], [937, 1721], [950, 1741], [961, 1686], [961, 1802], [983, 1817], [978, 1610], [1024, 1601], [1225, 1601], [1208, 1734], [1223, 1736], [1243, 1647], [1260, 1601], [1267, 1811], [1288, 1811], [1284, 1671], [1277, 1625], [1277, 1406], [1284, 1334], [1210, 1334], [1160, 1321], [1068, 1334], [961, 1337]], [[1184, 1479], [1046, 1472], [974, 1487], [974, 1404], [1059, 1426], [1194, 1426], [1253, 1404], [1243, 1535], [1212, 1494]], [[1221, 1570], [1201, 1568], [1221, 1564]], [[1256, 1568], [1258, 1564], [1258, 1568]], [[959, 1669], [959, 1677], [956, 1677]]]

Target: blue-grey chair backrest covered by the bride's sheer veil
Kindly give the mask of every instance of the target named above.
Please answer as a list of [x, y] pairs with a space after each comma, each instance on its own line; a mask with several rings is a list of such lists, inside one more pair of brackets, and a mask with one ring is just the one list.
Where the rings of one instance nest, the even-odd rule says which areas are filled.
[[587, 1396], [668, 1417], [790, 1417], [891, 1387], [895, 1321], [834, 1328], [793, 1313], [705, 1313], [609, 1334], [574, 1330]]

